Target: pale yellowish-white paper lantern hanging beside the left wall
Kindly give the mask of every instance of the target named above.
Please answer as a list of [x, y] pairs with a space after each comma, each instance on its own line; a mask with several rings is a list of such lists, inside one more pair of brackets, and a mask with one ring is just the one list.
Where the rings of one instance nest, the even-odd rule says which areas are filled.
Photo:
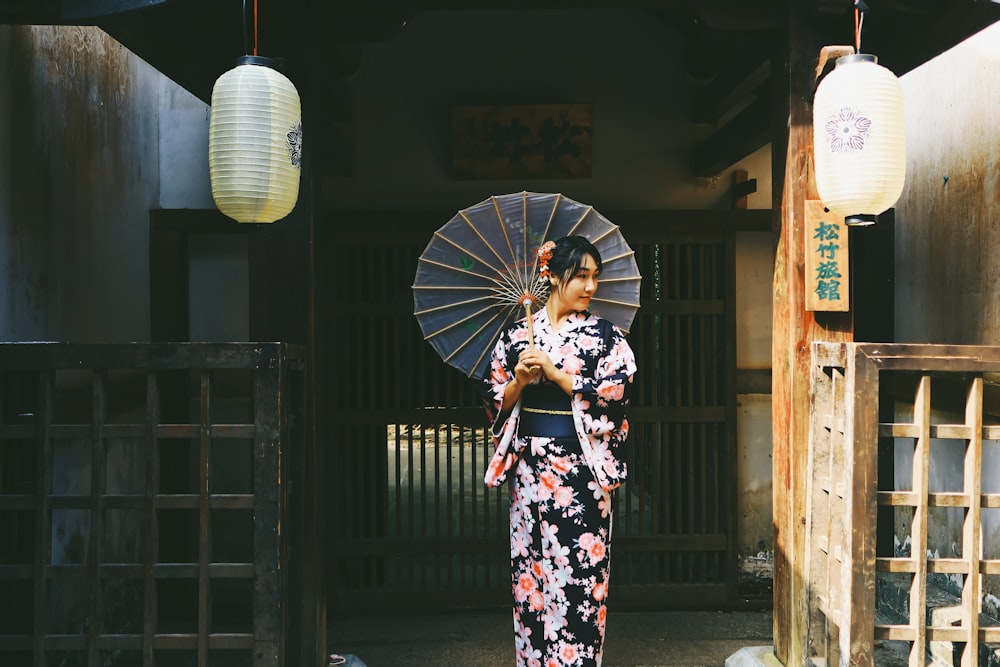
[[274, 222], [299, 196], [302, 110], [274, 61], [243, 56], [212, 89], [208, 166], [212, 197], [238, 222]]

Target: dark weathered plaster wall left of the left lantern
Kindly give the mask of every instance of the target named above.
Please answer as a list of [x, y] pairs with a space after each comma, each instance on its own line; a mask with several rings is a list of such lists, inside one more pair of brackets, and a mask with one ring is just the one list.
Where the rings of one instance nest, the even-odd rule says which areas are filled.
[[149, 211], [211, 205], [207, 106], [96, 28], [0, 53], [0, 340], [147, 340]]

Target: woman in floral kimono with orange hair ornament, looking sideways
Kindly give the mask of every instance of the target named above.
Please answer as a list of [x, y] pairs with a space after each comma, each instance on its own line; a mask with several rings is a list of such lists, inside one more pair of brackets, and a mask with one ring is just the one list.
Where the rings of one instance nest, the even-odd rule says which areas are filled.
[[[600, 665], [611, 496], [625, 479], [625, 335], [587, 310], [601, 255], [582, 236], [539, 249], [545, 308], [505, 331], [483, 380], [497, 441], [486, 484], [510, 486], [517, 665]], [[529, 341], [533, 336], [534, 341]]]

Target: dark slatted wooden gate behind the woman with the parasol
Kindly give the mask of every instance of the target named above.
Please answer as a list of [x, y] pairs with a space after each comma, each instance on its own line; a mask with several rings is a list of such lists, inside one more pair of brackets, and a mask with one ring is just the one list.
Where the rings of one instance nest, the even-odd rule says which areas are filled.
[[[609, 215], [643, 274], [631, 476], [616, 500], [620, 606], [738, 599], [734, 233], [767, 217], [696, 213]], [[412, 315], [417, 257], [446, 220], [340, 213], [317, 235], [332, 614], [508, 604], [507, 489], [482, 484], [483, 411]]]

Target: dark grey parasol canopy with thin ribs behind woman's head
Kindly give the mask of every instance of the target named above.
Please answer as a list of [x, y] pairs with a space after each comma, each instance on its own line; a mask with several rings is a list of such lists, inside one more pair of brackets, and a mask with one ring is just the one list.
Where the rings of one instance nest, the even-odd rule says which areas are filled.
[[434, 232], [417, 263], [414, 314], [441, 358], [481, 379], [500, 333], [530, 308], [544, 306], [548, 281], [538, 247], [583, 236], [603, 267], [590, 310], [624, 331], [639, 309], [639, 267], [618, 226], [560, 194], [498, 195], [459, 211]]

